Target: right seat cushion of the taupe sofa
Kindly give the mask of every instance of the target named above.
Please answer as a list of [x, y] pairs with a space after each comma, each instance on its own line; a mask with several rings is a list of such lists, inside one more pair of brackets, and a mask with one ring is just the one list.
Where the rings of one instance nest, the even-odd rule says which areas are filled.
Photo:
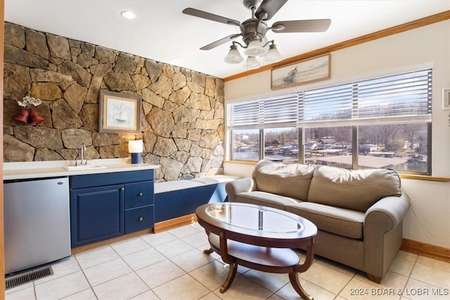
[[361, 211], [311, 202], [288, 204], [286, 211], [308, 219], [319, 230], [359, 240], [363, 238], [364, 213]]

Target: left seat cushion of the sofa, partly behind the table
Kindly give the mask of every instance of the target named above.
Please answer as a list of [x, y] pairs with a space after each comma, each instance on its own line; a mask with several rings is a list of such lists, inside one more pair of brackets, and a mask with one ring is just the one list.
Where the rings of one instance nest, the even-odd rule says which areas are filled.
[[274, 207], [276, 209], [285, 210], [286, 205], [297, 203], [298, 200], [271, 193], [255, 191], [239, 193], [236, 195], [236, 202], [257, 204], [264, 207]]

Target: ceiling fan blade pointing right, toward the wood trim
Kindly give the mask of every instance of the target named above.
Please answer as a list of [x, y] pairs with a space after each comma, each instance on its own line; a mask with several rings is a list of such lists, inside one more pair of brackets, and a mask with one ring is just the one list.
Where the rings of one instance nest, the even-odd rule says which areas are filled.
[[330, 24], [330, 19], [278, 21], [272, 25], [271, 30], [276, 33], [325, 32], [330, 27]]

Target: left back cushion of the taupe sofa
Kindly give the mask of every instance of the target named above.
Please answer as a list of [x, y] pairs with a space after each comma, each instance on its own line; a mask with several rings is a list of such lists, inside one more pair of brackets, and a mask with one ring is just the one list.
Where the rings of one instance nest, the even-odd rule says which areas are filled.
[[311, 164], [259, 161], [253, 170], [257, 190], [306, 201], [314, 173]]

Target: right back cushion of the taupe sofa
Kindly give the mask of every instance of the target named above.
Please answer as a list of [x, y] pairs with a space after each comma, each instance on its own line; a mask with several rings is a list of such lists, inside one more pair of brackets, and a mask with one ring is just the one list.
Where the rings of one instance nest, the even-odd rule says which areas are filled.
[[383, 197], [400, 195], [400, 177], [393, 170], [317, 166], [308, 201], [365, 212]]

